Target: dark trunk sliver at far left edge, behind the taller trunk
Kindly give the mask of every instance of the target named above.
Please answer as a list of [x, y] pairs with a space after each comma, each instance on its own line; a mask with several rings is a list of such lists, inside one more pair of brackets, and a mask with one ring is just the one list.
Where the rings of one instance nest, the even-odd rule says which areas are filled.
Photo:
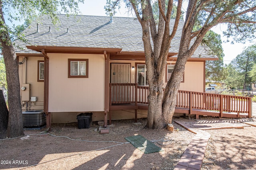
[[6, 138], [8, 126], [8, 109], [4, 100], [3, 90], [0, 90], [0, 139]]

